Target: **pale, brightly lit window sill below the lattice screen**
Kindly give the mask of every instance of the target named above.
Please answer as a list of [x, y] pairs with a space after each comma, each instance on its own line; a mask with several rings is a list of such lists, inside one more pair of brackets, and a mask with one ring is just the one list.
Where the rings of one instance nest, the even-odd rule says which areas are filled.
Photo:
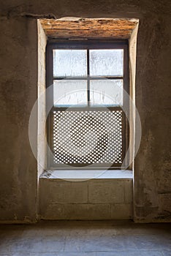
[[45, 170], [40, 178], [66, 180], [133, 179], [133, 172], [132, 170]]

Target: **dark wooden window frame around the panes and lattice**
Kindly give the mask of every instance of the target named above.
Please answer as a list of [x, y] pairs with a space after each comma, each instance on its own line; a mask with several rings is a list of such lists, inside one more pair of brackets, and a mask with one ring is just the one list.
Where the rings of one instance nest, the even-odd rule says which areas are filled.
[[[108, 78], [110, 80], [112, 79], [122, 79], [123, 80], [123, 89], [126, 91], [127, 94], [130, 93], [130, 89], [129, 89], [129, 42], [127, 39], [122, 39], [122, 40], [104, 40], [104, 39], [87, 39], [87, 40], [69, 40], [69, 39], [53, 39], [50, 41], [47, 41], [47, 47], [46, 47], [46, 87], [48, 88], [49, 86], [51, 86], [53, 84], [53, 50], [56, 49], [64, 49], [64, 50], [71, 50], [71, 49], [75, 49], [75, 50], [87, 50], [88, 53], [88, 57], [89, 57], [89, 50], [91, 49], [123, 49], [123, 76], [103, 76], [102, 79], [104, 78]], [[88, 63], [89, 63], [89, 59], [88, 59]], [[89, 67], [87, 67], [89, 70]], [[88, 74], [89, 75], [89, 74]], [[65, 79], [64, 78], [55, 78], [55, 80], [62, 80]], [[75, 79], [73, 77], [74, 80], [77, 80], [77, 78]], [[87, 78], [87, 80], [91, 80], [91, 79], [96, 79], [96, 78]], [[100, 78], [97, 78], [98, 80], [100, 80]], [[69, 78], [69, 80], [72, 80], [71, 78]], [[83, 80], [86, 80], [86, 78], [84, 77]], [[46, 97], [46, 102], [47, 105], [53, 105], [53, 90], [50, 90], [50, 94], [48, 94], [48, 96]], [[88, 105], [89, 105], [89, 97], [88, 97]], [[124, 108], [124, 105], [127, 106], [127, 108]], [[83, 110], [86, 109], [87, 107], [82, 107], [82, 108], [75, 108], [75, 110]], [[91, 109], [97, 109], [94, 107], [90, 107]], [[109, 110], [122, 110], [121, 107], [105, 107], [108, 108]], [[54, 110], [57, 110], [58, 107], [54, 107], [51, 108], [50, 113], [47, 116], [47, 143], [48, 146], [51, 148], [51, 151], [53, 151], [53, 116], [52, 113]], [[61, 108], [60, 110], [66, 110], [67, 108]], [[73, 108], [72, 108], [73, 109]], [[98, 110], [102, 110], [103, 108], [99, 108]], [[129, 118], [129, 102], [126, 98], [124, 98], [124, 94], [123, 94], [123, 109], [126, 109], [126, 113], [123, 113], [123, 130], [122, 130], [122, 145], [123, 145], [123, 159], [126, 155], [126, 151], [129, 148], [129, 122], [128, 122], [128, 118]], [[126, 118], [127, 117], [127, 118]], [[50, 154], [51, 155], [51, 154]], [[63, 168], [63, 165], [55, 165], [53, 164], [53, 159], [51, 159], [52, 157], [50, 157], [50, 155], [47, 155], [47, 168], [48, 169], [58, 169], [58, 168]], [[128, 160], [126, 160], [127, 162]], [[82, 167], [84, 168], [84, 165], [69, 165], [67, 169], [73, 169], [73, 168], [78, 168], [78, 169], [82, 169]], [[91, 165], [90, 167], [86, 166], [86, 169], [92, 169]], [[96, 165], [97, 169], [103, 169], [106, 168], [106, 165]], [[107, 167], [107, 169], [110, 170], [115, 170], [115, 169], [124, 169], [124, 166], [122, 165], [118, 165], [118, 164], [113, 164], [110, 167]], [[65, 168], [66, 169], [66, 168]]]

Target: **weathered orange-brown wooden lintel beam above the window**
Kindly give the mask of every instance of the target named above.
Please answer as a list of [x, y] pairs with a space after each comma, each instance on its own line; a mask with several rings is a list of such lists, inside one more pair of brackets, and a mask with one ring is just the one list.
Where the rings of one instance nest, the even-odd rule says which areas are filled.
[[129, 19], [41, 19], [47, 37], [129, 38], [137, 20]]

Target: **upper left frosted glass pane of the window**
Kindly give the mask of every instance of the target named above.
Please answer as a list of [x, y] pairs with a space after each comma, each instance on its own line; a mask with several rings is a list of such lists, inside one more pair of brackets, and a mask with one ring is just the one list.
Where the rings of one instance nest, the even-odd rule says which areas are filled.
[[86, 50], [53, 50], [53, 76], [87, 75]]

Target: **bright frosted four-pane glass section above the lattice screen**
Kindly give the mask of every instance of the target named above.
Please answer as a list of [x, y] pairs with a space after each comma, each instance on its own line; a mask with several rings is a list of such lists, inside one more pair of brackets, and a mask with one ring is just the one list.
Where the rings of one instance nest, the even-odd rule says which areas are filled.
[[56, 107], [123, 105], [123, 49], [53, 50], [53, 77]]

